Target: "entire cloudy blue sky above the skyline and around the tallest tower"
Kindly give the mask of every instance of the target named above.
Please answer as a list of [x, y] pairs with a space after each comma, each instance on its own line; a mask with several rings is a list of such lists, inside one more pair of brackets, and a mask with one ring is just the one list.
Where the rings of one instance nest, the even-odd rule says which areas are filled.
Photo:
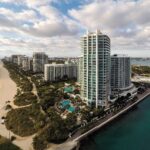
[[96, 29], [112, 54], [150, 57], [150, 0], [0, 0], [0, 57], [80, 56], [80, 37]]

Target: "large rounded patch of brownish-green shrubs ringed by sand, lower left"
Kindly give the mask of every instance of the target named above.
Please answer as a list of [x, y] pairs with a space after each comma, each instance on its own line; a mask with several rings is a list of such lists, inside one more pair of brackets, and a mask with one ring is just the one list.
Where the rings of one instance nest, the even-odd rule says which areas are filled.
[[45, 115], [40, 106], [33, 104], [25, 108], [12, 109], [6, 116], [6, 127], [17, 135], [29, 136], [45, 126]]

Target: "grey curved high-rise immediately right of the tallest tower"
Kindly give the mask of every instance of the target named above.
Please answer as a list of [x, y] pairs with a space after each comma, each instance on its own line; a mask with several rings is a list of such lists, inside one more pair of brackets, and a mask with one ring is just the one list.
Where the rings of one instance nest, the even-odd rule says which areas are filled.
[[117, 92], [131, 86], [130, 57], [113, 55], [111, 57], [111, 90]]

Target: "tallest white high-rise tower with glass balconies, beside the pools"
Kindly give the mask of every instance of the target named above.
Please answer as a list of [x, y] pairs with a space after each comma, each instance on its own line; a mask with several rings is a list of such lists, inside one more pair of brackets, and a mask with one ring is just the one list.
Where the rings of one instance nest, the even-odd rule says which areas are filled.
[[96, 108], [106, 106], [110, 95], [110, 38], [100, 31], [87, 33], [81, 38], [81, 47], [83, 97]]

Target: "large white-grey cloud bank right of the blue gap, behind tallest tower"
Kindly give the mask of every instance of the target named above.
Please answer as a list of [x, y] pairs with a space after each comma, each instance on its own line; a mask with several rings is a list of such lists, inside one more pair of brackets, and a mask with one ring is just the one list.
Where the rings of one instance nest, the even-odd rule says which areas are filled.
[[[112, 40], [112, 49], [149, 49], [149, 0], [95, 0], [69, 10], [69, 14], [89, 30], [100, 28]], [[141, 46], [142, 45], [142, 46]]]

